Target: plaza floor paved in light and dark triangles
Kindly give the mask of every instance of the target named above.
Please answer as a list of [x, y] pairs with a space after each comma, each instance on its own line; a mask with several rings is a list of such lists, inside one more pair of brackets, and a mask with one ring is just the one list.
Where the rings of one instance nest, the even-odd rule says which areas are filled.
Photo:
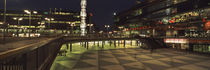
[[101, 49], [58, 56], [51, 70], [210, 70], [209, 59], [171, 49]]

